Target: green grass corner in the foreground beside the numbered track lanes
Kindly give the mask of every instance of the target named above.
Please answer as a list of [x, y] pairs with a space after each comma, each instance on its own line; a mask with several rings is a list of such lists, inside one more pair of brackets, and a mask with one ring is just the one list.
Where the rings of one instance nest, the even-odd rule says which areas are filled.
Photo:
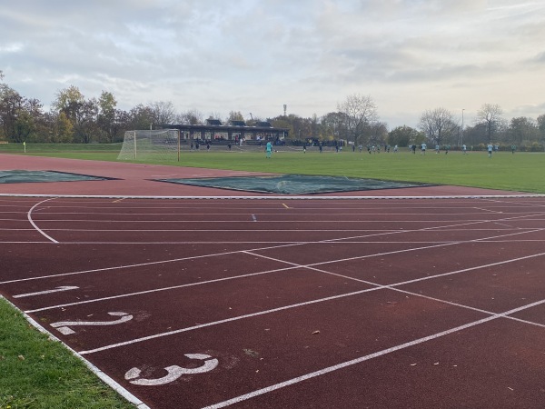
[[134, 408], [0, 297], [0, 409]]

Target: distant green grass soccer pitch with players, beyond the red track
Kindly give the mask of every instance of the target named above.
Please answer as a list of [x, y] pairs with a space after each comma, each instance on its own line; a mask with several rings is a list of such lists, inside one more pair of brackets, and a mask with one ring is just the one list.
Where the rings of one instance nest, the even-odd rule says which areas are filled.
[[[26, 155], [55, 156], [85, 160], [115, 161], [121, 148], [115, 145], [27, 145]], [[421, 182], [437, 185], [460, 185], [500, 190], [545, 194], [544, 153], [495, 153], [489, 159], [486, 152], [470, 152], [462, 155], [452, 151], [449, 155], [412, 155], [406, 148], [397, 154], [362, 154], [344, 151], [335, 154], [317, 148], [306, 154], [302, 149], [279, 148], [280, 152], [266, 160], [264, 154], [254, 148], [240, 151], [238, 147], [228, 151], [225, 146], [213, 146], [210, 152], [183, 151], [182, 165], [213, 169], [231, 169], [255, 172], [271, 172], [297, 175], [342, 175], [402, 182]], [[22, 154], [22, 145], [0, 145], [0, 152]], [[159, 164], [156, 162], [156, 164]]]

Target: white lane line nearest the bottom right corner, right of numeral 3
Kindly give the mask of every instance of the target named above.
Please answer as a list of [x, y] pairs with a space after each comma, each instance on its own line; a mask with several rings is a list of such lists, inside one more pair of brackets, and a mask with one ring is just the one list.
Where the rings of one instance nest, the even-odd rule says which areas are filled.
[[341, 364], [335, 364], [335, 365], [323, 368], [323, 369], [321, 369], [319, 371], [314, 371], [314, 372], [312, 372], [310, 374], [304, 374], [302, 376], [297, 376], [295, 378], [292, 378], [292, 379], [290, 379], [288, 381], [281, 382], [279, 384], [272, 384], [272, 385], [267, 386], [265, 388], [253, 391], [253, 392], [251, 392], [249, 394], [241, 394], [239, 396], [236, 396], [236, 397], [234, 397], [232, 399], [220, 402], [218, 404], [211, 404], [209, 406], [204, 407], [203, 409], [219, 409], [219, 408], [222, 408], [222, 407], [230, 406], [232, 404], [238, 404], [240, 402], [246, 401], [248, 399], [251, 399], [251, 398], [253, 398], [255, 396], [259, 396], [261, 394], [268, 394], [268, 393], [270, 393], [272, 391], [282, 389], [283, 387], [290, 386], [292, 384], [299, 384], [299, 383], [301, 383], [303, 381], [306, 381], [308, 379], [312, 379], [312, 378], [314, 378], [316, 376], [321, 376], [323, 374], [329, 374], [329, 373], [332, 373], [334, 371], [338, 371], [340, 369], [343, 369], [343, 368], [346, 368], [346, 367], [349, 367], [349, 366], [352, 366], [352, 365], [355, 365], [355, 364], [361, 364], [362, 362], [369, 361], [369, 360], [371, 360], [373, 358], [377, 358], [377, 357], [385, 355], [385, 354], [391, 354], [393, 352], [400, 351], [401, 349], [409, 348], [409, 347], [411, 347], [413, 345], [423, 344], [425, 342], [440, 338], [441, 336], [453, 334], [453, 333], [456, 333], [456, 332], [471, 328], [472, 326], [485, 324], [485, 323], [488, 323], [489, 321], [492, 321], [492, 320], [495, 320], [495, 319], [498, 319], [498, 318], [502, 318], [502, 317], [505, 317], [506, 315], [514, 314], [514, 313], [517, 313], [517, 312], [522, 311], [524, 309], [531, 308], [531, 307], [534, 307], [536, 305], [540, 305], [540, 304], [544, 304], [544, 303], [545, 303], [545, 300], [541, 300], [541, 301], [538, 301], [536, 303], [523, 305], [521, 307], [514, 308], [514, 309], [512, 309], [510, 311], [507, 311], [505, 313], [502, 313], [502, 314], [493, 314], [493, 315], [491, 315], [489, 317], [482, 318], [481, 320], [477, 320], [477, 321], [473, 321], [473, 322], [468, 323], [468, 324], [463, 324], [463, 325], [460, 325], [460, 326], [456, 326], [456, 327], [448, 329], [446, 331], [441, 331], [440, 333], [431, 334], [431, 335], [428, 335], [428, 336], [424, 336], [422, 338], [415, 339], [415, 340], [410, 341], [408, 343], [392, 346], [391, 348], [386, 348], [386, 349], [383, 349], [381, 351], [378, 351], [378, 352], [375, 352], [375, 353], [372, 353], [372, 354], [367, 354], [367, 355], [361, 356], [359, 358], [352, 359], [350, 361], [345, 361], [345, 362], [343, 362]]

